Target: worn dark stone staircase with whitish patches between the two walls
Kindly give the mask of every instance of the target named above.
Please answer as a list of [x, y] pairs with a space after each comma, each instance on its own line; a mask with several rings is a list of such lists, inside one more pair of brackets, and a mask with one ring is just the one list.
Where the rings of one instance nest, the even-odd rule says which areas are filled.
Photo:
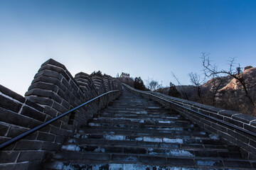
[[44, 169], [256, 169], [240, 149], [124, 89]]

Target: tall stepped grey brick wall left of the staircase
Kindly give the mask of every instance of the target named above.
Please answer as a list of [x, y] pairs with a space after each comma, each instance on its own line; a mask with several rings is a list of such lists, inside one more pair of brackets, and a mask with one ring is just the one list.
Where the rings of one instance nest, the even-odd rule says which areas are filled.
[[[50, 59], [41, 65], [25, 97], [0, 85], [0, 143], [115, 89], [122, 86], [110, 76], [80, 72], [73, 77], [63, 64]], [[73, 136], [88, 118], [118, 96], [103, 96], [4, 148], [0, 152], [0, 169], [40, 169], [65, 137]]]

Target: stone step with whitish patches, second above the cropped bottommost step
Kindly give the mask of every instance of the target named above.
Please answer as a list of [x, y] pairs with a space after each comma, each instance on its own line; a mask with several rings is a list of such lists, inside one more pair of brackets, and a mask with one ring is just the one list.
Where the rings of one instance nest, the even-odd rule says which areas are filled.
[[94, 152], [112, 154], [144, 154], [160, 155], [166, 157], [221, 157], [221, 158], [241, 158], [240, 152], [229, 152], [227, 149], [171, 149], [156, 147], [128, 147], [128, 146], [108, 146], [108, 145], [63, 145], [63, 152]]

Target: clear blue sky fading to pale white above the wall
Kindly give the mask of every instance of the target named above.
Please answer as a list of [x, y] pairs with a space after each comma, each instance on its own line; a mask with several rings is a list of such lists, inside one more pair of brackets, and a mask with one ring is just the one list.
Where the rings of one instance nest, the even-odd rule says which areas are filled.
[[201, 52], [220, 68], [236, 57], [256, 66], [256, 1], [0, 0], [0, 84], [23, 95], [53, 58], [73, 76], [101, 70], [115, 77], [190, 84]]

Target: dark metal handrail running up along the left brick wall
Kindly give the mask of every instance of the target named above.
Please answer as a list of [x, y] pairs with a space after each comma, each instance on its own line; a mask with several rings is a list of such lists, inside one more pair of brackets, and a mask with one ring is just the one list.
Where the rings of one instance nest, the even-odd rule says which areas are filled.
[[67, 111], [67, 112], [65, 112], [65, 113], [63, 113], [63, 114], [61, 114], [61, 115], [58, 115], [57, 117], [55, 117], [55, 118], [53, 118], [53, 119], [51, 119], [51, 120], [48, 120], [46, 123], [43, 123], [43, 124], [41, 124], [41, 125], [38, 125], [36, 128], [33, 128], [33, 129], [28, 130], [28, 131], [26, 131], [26, 132], [23, 132], [21, 135], [18, 135], [18, 136], [16, 136], [16, 137], [12, 138], [11, 140], [8, 140], [8, 141], [6, 141], [6, 142], [4, 142], [4, 143], [1, 143], [0, 149], [3, 149], [4, 147], [7, 147], [7, 146], [11, 145], [12, 143], [17, 142], [18, 140], [23, 139], [23, 137], [26, 137], [27, 135], [30, 135], [30, 134], [33, 133], [33, 132], [36, 132], [36, 130], [40, 130], [41, 128], [45, 127], [46, 125], [49, 125], [50, 123], [55, 122], [56, 120], [62, 118], [63, 116], [68, 115], [68, 113], [71, 113], [71, 112], [73, 112], [73, 111], [76, 111], [78, 108], [81, 108], [82, 106], [85, 106], [87, 103], [90, 103], [90, 102], [92, 102], [92, 101], [95, 101], [97, 98], [100, 98], [100, 97], [102, 97], [102, 96], [105, 96], [106, 94], [110, 94], [110, 93], [114, 93], [114, 92], [118, 92], [118, 91], [122, 91], [122, 89], [121, 89], [121, 90], [108, 91], [108, 92], [106, 92], [105, 94], [101, 94], [100, 96], [97, 96], [97, 97], [95, 97], [95, 98], [92, 98], [90, 101], [87, 101], [87, 102], [85, 102], [85, 103], [82, 103], [80, 106], [77, 106], [77, 107], [71, 109], [70, 111]]

